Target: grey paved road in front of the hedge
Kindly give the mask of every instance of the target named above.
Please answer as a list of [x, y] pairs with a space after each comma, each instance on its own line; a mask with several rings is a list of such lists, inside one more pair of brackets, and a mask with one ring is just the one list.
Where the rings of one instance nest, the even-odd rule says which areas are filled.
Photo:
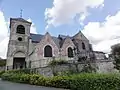
[[63, 90], [63, 89], [48, 88], [48, 87], [42, 87], [42, 86], [33, 86], [33, 85], [0, 81], [0, 90]]

